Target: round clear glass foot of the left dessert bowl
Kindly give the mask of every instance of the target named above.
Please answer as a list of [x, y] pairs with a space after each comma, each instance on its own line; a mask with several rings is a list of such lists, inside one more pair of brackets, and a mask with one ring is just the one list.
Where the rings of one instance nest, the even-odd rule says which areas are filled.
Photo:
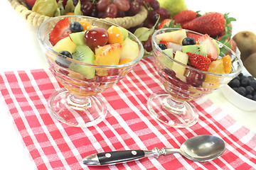
[[49, 98], [50, 113], [60, 122], [85, 128], [97, 125], [105, 119], [107, 106], [101, 96], [89, 96], [75, 101], [69, 91], [55, 91]]

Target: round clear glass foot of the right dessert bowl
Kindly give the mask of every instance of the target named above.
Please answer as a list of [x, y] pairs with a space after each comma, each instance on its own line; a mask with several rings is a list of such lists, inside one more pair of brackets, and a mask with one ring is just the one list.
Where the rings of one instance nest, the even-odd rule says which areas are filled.
[[198, 111], [190, 102], [184, 102], [183, 107], [176, 108], [169, 104], [171, 96], [159, 91], [149, 96], [146, 103], [149, 113], [161, 123], [174, 128], [188, 128], [198, 121]]

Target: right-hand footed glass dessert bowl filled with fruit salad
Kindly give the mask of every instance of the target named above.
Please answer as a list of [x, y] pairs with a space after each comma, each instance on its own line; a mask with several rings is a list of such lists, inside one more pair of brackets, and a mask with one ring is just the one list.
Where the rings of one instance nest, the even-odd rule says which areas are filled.
[[[190, 101], [228, 84], [242, 71], [240, 57], [209, 38], [208, 35], [178, 28], [156, 30], [152, 35], [154, 63], [165, 91], [151, 94], [147, 107], [151, 115], [162, 123], [175, 128], [194, 125], [198, 121], [198, 111]], [[203, 55], [207, 62], [198, 63], [201, 59], [191, 53]], [[227, 57], [228, 67], [223, 64]]]

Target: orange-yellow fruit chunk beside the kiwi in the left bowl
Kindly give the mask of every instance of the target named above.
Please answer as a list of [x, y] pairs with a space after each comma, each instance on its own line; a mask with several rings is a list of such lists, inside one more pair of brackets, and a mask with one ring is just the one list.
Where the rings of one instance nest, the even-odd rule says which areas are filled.
[[122, 45], [108, 44], [95, 49], [95, 64], [117, 65], [119, 64]]

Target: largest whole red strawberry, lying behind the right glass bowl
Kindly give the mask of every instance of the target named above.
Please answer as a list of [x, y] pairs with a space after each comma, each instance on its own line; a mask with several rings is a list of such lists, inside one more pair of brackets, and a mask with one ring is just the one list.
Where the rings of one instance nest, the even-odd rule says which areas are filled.
[[181, 27], [215, 37], [225, 30], [225, 18], [220, 13], [209, 13], [181, 24]]

